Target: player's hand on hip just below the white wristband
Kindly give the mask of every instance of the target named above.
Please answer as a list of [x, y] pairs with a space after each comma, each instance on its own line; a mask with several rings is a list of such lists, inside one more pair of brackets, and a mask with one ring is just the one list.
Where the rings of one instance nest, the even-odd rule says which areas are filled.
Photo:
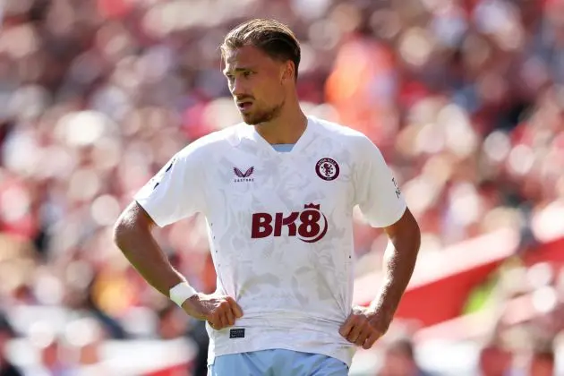
[[243, 310], [231, 296], [198, 294], [182, 304], [184, 312], [198, 320], [206, 320], [211, 328], [219, 330], [233, 326], [243, 317]]

